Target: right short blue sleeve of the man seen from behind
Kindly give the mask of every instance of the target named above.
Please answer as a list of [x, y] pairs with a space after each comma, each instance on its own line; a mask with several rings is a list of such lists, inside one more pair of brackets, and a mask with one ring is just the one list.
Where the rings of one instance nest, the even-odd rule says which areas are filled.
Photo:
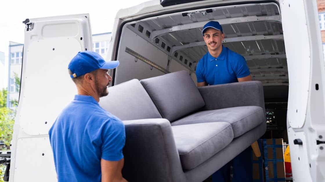
[[101, 158], [118, 161], [123, 158], [122, 149], [125, 144], [125, 128], [121, 120], [110, 119], [102, 130]]

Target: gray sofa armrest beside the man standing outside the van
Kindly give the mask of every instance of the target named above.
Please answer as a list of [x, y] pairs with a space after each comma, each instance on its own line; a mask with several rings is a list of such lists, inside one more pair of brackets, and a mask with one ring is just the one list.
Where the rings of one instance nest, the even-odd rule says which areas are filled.
[[126, 180], [185, 181], [167, 119], [137, 119], [123, 123], [126, 139], [122, 175]]

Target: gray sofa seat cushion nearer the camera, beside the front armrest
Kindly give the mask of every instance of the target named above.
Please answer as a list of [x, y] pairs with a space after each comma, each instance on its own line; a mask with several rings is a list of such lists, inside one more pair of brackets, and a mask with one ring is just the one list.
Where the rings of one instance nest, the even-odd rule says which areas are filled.
[[225, 148], [234, 138], [227, 122], [172, 126], [183, 169], [191, 170]]

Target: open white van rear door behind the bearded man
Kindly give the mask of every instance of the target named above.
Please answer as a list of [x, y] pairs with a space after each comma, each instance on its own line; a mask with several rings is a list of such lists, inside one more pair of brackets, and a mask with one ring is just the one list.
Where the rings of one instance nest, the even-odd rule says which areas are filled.
[[77, 93], [68, 63], [92, 50], [89, 14], [26, 19], [10, 181], [57, 181], [48, 130]]

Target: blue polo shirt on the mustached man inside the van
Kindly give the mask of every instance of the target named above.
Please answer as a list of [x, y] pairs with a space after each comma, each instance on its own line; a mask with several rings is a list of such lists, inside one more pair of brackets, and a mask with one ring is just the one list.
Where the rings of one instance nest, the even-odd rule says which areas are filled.
[[200, 59], [195, 74], [197, 82], [217, 85], [238, 82], [237, 78], [250, 75], [250, 71], [243, 56], [222, 46], [217, 58], [208, 51]]

